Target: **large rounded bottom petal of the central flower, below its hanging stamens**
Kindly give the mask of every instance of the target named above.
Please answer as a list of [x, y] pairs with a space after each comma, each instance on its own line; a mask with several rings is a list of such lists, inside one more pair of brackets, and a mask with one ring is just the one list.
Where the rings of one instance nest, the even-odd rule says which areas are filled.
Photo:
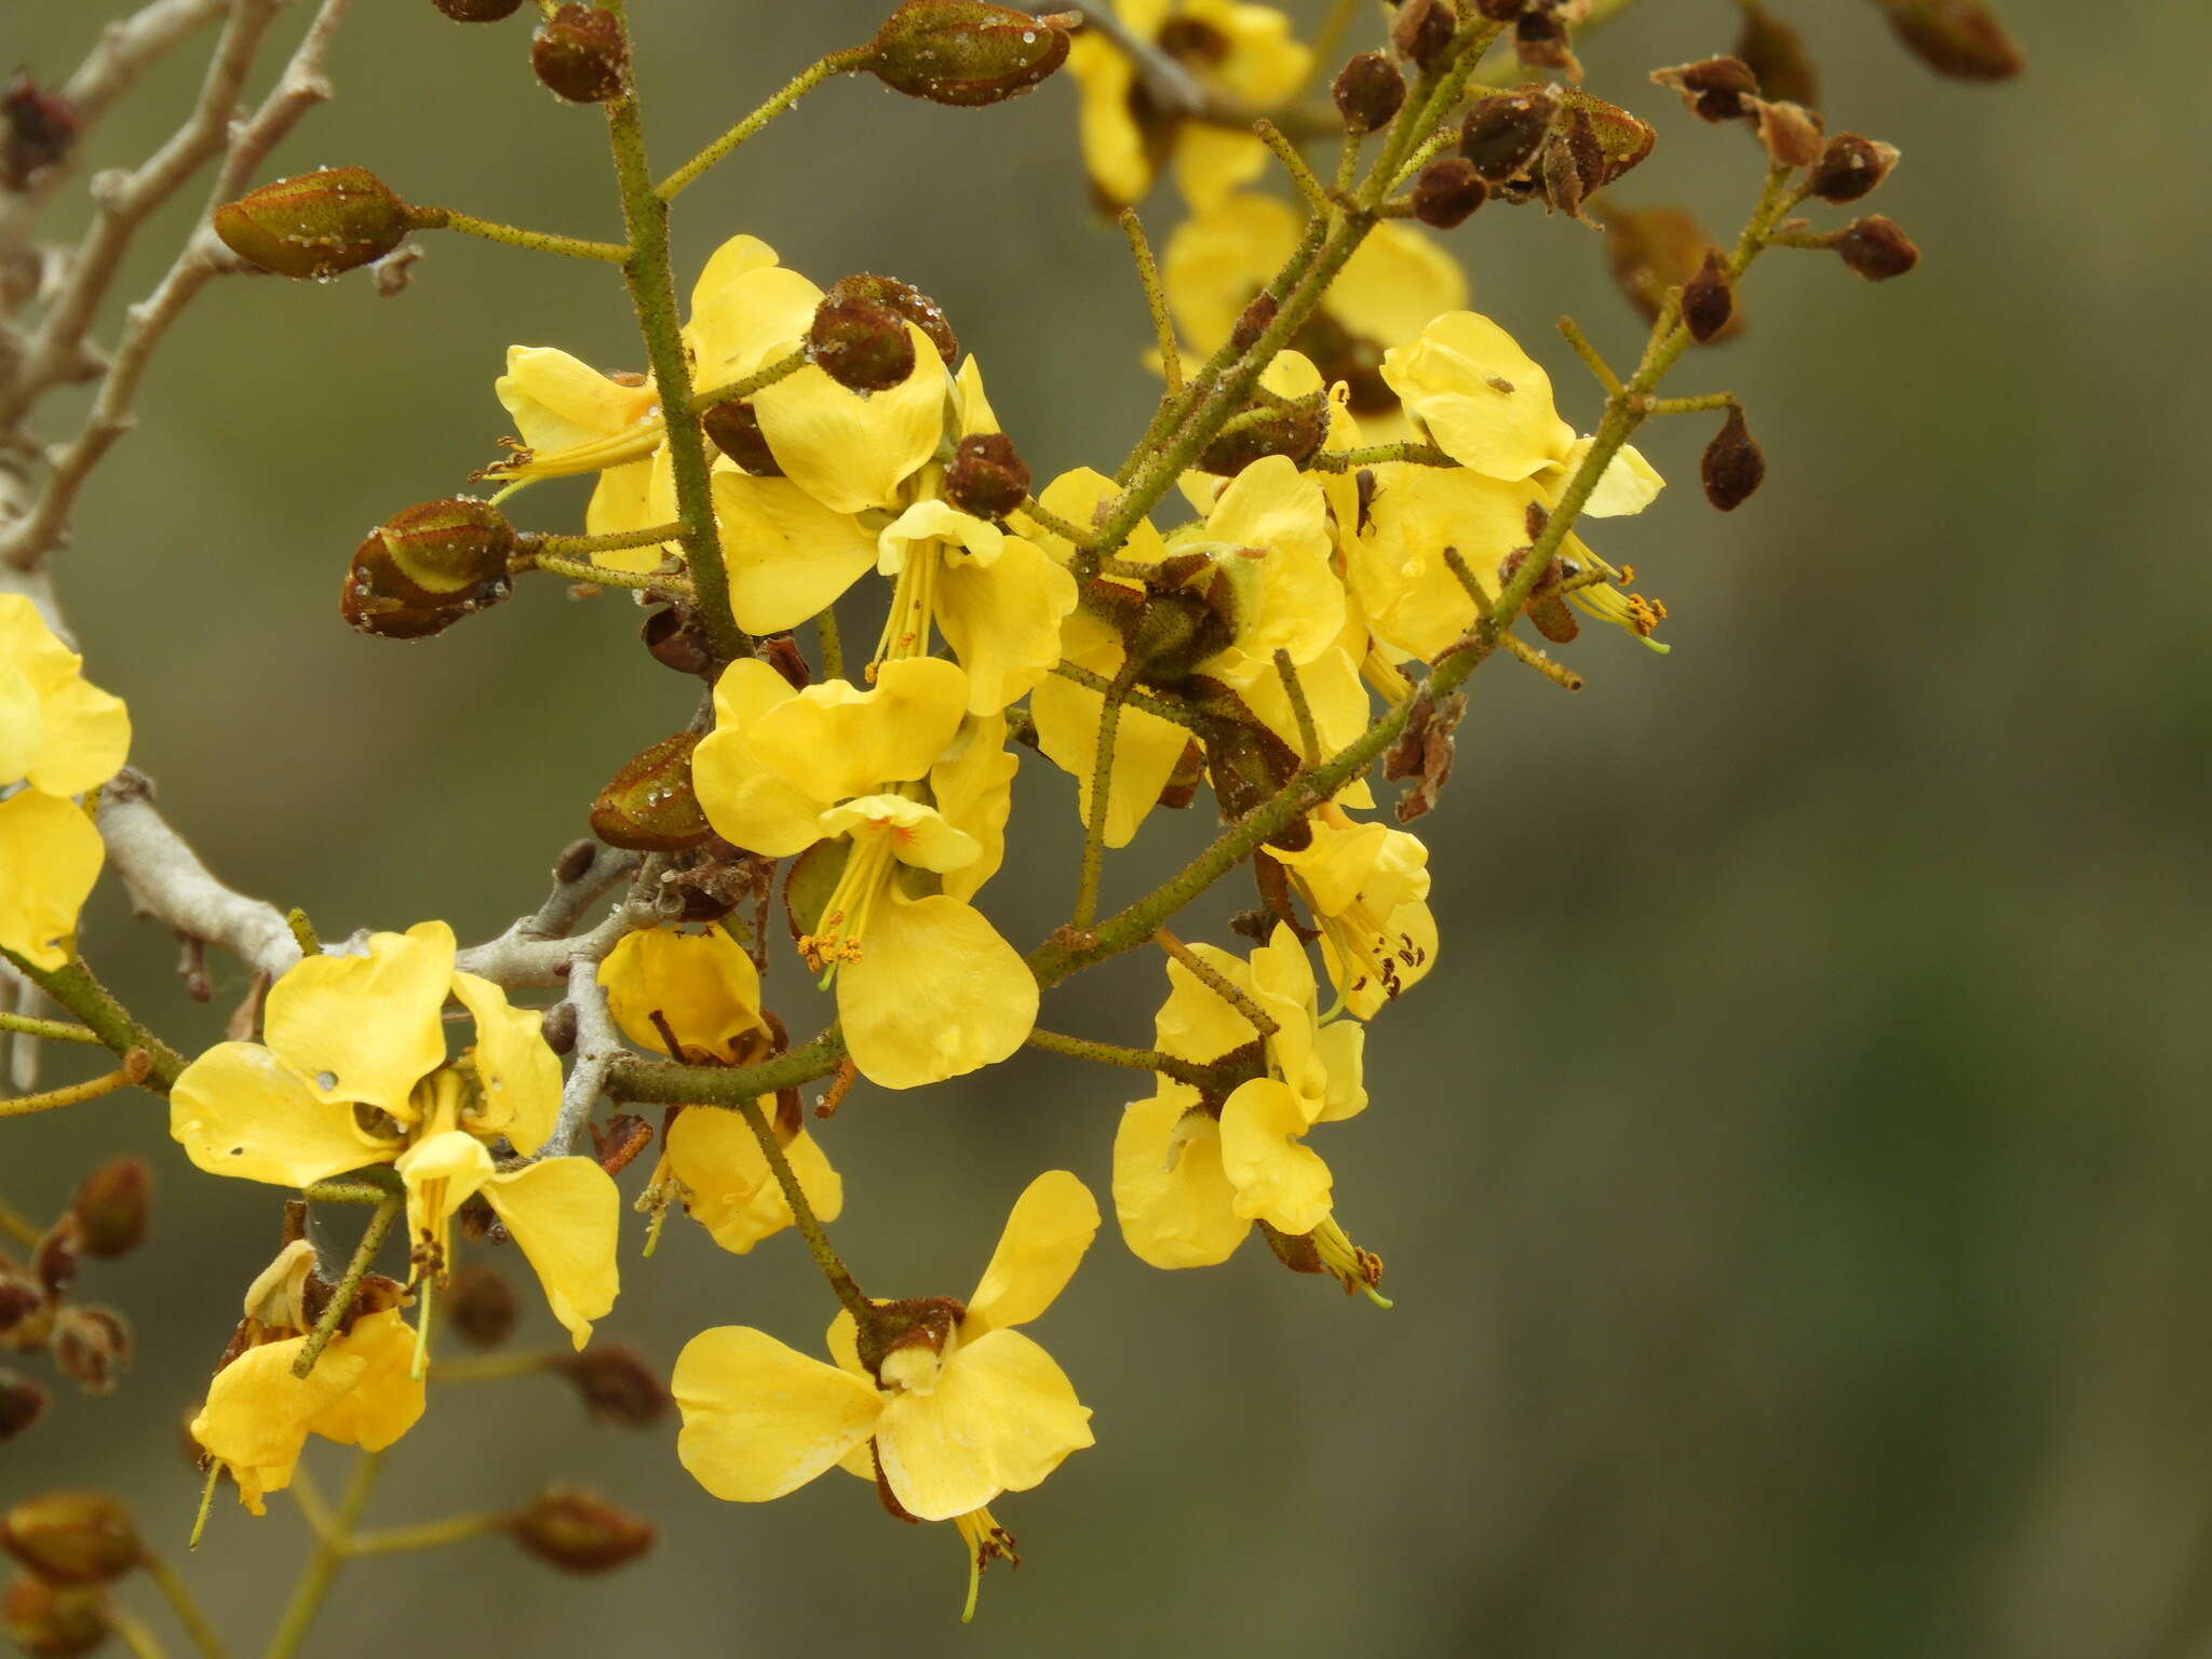
[[1037, 980], [973, 905], [896, 887], [836, 978], [854, 1066], [916, 1088], [993, 1066], [1037, 1024]]

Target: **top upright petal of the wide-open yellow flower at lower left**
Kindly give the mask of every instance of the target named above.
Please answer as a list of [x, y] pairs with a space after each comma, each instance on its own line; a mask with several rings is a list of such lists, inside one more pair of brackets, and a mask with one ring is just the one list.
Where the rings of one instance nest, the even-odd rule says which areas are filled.
[[310, 956], [270, 987], [270, 1051], [325, 1102], [407, 1108], [445, 1062], [440, 1009], [453, 987], [453, 929], [372, 933], [367, 956]]

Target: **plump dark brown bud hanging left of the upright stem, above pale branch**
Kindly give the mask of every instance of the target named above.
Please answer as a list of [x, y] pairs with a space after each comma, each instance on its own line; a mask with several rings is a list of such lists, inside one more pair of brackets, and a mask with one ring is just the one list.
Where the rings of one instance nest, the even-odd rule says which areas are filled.
[[513, 593], [515, 531], [491, 502], [447, 495], [394, 513], [354, 549], [338, 615], [378, 639], [420, 639]]

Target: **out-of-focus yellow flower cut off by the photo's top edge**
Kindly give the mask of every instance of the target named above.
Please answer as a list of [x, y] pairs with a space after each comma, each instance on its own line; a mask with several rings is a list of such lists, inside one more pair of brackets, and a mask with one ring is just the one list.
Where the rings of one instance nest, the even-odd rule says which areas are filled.
[[[1119, 0], [1115, 9], [1133, 33], [1254, 113], [1296, 93], [1314, 62], [1314, 53], [1292, 38], [1290, 18], [1274, 7]], [[1128, 55], [1097, 31], [1075, 35], [1068, 73], [1082, 102], [1084, 170], [1110, 208], [1141, 201], [1170, 153], [1175, 181], [1199, 210], [1267, 166], [1267, 148], [1256, 137], [1166, 115]]]

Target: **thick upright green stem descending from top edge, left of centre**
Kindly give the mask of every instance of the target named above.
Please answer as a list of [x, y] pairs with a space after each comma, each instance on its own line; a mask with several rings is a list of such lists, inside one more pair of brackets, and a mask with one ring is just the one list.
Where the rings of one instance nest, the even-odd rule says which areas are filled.
[[[617, 22], [624, 20], [624, 0], [606, 0], [602, 9], [615, 13]], [[615, 157], [622, 221], [630, 234], [622, 279], [630, 290], [630, 307], [637, 312], [646, 358], [653, 365], [653, 385], [661, 396], [677, 518], [684, 522], [679, 540], [697, 588], [699, 624], [714, 653], [737, 661], [752, 655], [752, 644], [730, 615], [730, 575], [721, 562], [721, 533], [714, 524], [706, 436], [699, 431], [699, 416], [690, 411], [690, 352], [684, 347], [677, 279], [668, 261], [668, 201], [653, 190], [653, 164], [646, 157], [635, 91], [606, 104], [606, 139]]]

